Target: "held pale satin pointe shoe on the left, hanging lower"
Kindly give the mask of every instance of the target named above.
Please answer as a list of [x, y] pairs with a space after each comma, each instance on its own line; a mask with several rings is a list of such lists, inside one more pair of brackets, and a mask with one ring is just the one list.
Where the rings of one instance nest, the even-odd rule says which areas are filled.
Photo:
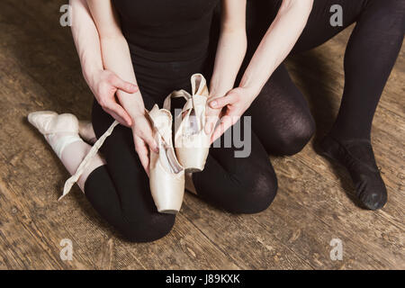
[[175, 157], [172, 142], [172, 115], [155, 105], [148, 112], [159, 153], [150, 150], [149, 186], [160, 213], [180, 211], [184, 197], [184, 167]]

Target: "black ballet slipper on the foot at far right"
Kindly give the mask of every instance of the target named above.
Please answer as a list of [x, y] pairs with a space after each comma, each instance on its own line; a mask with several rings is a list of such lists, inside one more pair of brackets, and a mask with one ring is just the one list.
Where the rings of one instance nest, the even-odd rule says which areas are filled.
[[387, 189], [369, 140], [339, 141], [327, 135], [320, 141], [319, 148], [321, 155], [347, 168], [356, 187], [356, 197], [367, 209], [383, 208], [387, 202]]

